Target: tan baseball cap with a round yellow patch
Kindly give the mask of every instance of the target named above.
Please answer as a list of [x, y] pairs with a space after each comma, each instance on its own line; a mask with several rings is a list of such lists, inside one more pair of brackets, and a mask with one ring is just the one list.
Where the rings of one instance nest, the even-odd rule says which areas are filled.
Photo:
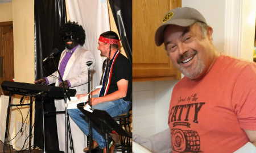
[[174, 10], [168, 11], [163, 18], [161, 26], [155, 32], [155, 44], [160, 46], [163, 40], [163, 30], [169, 24], [174, 24], [181, 27], [188, 27], [196, 21], [207, 24], [204, 16], [196, 9], [191, 7], [177, 7]]

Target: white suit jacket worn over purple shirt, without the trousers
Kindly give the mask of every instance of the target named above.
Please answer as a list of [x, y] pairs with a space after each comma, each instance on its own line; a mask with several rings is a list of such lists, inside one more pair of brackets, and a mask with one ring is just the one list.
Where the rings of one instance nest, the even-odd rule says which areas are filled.
[[[63, 57], [66, 54], [66, 49], [61, 53], [60, 63], [63, 60]], [[93, 53], [82, 48], [80, 45], [76, 48], [75, 52], [72, 54], [71, 58], [69, 59], [67, 66], [64, 71], [63, 80], [69, 80], [71, 84], [71, 89], [76, 89], [76, 94], [88, 93], [88, 86], [85, 85], [88, 83], [88, 67], [86, 65], [87, 61], [93, 61], [93, 64], [90, 65], [91, 72], [95, 65], [95, 59]], [[53, 76], [59, 77], [58, 72], [52, 73]], [[49, 84], [55, 82], [55, 86], [59, 86], [59, 80], [53, 76], [48, 76]]]

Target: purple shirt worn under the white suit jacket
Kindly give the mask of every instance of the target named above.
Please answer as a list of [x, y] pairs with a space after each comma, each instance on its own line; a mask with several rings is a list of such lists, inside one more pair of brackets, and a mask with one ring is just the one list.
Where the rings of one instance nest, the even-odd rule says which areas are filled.
[[[65, 72], [65, 68], [68, 64], [68, 61], [70, 59], [70, 57], [72, 56], [72, 54], [75, 52], [76, 48], [78, 47], [79, 45], [77, 45], [76, 47], [74, 47], [73, 49], [71, 49], [71, 52], [68, 52], [70, 51], [69, 49], [67, 49], [68, 51], [66, 52], [65, 56], [63, 57], [63, 59], [61, 60], [60, 62], [60, 75], [61, 77], [63, 77], [64, 75], [64, 72]], [[49, 81], [46, 77], [44, 77], [46, 79], [46, 84], [49, 84]], [[68, 82], [68, 86], [71, 86], [70, 82], [68, 80], [66, 80]], [[61, 80], [59, 80], [59, 82], [61, 82]]]

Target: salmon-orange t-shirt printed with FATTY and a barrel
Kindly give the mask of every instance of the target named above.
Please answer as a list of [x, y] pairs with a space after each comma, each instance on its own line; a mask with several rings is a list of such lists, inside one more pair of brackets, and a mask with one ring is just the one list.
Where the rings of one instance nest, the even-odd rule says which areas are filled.
[[200, 81], [181, 79], [172, 92], [172, 152], [234, 152], [256, 130], [256, 64], [220, 55]]

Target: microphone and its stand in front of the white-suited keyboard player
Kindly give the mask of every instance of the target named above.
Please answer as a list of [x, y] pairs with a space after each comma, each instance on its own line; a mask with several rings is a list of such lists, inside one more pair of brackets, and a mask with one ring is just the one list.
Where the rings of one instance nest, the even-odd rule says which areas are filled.
[[[53, 55], [51, 56], [51, 59], [53, 60]], [[64, 85], [64, 81], [60, 75], [60, 71], [55, 63], [55, 61], [53, 60], [53, 63], [57, 69], [57, 72], [59, 73], [59, 77], [61, 79], [61, 82], [63, 84], [63, 89], [64, 89], [64, 102], [65, 102], [65, 148], [66, 148], [66, 151], [65, 153], [68, 153], [68, 104], [67, 104], [67, 97], [68, 97], [68, 100], [71, 101], [71, 98], [69, 96], [69, 93], [68, 93], [68, 90], [67, 88], [65, 87]]]

